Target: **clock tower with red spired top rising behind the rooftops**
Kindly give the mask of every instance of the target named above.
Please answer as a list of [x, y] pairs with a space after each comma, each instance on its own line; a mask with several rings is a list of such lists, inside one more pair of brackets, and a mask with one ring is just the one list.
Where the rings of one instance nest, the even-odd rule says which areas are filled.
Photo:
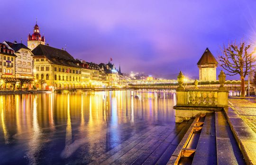
[[39, 26], [37, 25], [37, 22], [36, 22], [36, 25], [34, 26], [33, 34], [30, 35], [29, 33], [27, 36], [27, 48], [33, 50], [39, 44], [45, 45], [46, 40], [44, 36], [41, 37], [41, 34], [39, 33]]

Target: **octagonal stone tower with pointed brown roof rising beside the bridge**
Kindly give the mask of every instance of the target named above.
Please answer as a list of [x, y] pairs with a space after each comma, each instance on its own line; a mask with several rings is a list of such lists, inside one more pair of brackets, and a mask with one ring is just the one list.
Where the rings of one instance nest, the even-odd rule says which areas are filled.
[[205, 49], [202, 57], [197, 63], [199, 68], [199, 80], [201, 81], [216, 81], [217, 60], [211, 54], [208, 48]]

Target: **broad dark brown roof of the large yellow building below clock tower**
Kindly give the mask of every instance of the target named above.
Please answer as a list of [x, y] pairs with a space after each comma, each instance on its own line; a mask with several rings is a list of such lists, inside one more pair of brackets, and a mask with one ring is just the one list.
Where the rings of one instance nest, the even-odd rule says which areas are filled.
[[35, 49], [32, 50], [35, 57], [45, 56], [52, 63], [63, 66], [71, 66], [82, 68], [77, 66], [77, 63], [81, 63], [79, 60], [74, 59], [66, 50], [57, 49], [47, 45], [39, 44]]

